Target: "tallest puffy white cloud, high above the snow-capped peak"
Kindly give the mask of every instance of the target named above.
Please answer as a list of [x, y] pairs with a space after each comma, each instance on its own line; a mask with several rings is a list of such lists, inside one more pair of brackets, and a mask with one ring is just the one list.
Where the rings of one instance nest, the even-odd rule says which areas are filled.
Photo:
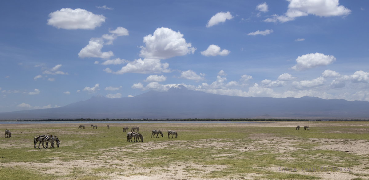
[[157, 28], [153, 35], [144, 37], [145, 46], [140, 46], [139, 56], [144, 58], [168, 59], [194, 53], [196, 48], [186, 43], [183, 34], [169, 28]]

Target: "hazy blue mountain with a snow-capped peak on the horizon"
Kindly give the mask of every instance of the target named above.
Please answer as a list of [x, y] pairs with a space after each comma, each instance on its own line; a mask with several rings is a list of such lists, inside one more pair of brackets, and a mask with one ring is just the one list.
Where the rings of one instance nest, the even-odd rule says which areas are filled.
[[166, 92], [114, 99], [97, 95], [64, 107], [0, 113], [0, 119], [369, 118], [368, 101], [225, 96], [166, 86]]

